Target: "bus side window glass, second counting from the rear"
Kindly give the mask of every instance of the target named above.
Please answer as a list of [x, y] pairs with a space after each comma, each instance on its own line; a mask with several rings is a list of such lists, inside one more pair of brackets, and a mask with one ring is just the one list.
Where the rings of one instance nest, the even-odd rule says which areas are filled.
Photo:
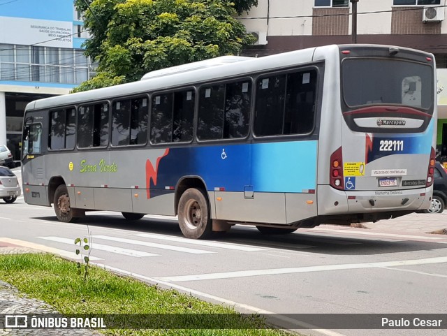
[[249, 131], [250, 105], [249, 80], [200, 88], [198, 138], [244, 138]]

